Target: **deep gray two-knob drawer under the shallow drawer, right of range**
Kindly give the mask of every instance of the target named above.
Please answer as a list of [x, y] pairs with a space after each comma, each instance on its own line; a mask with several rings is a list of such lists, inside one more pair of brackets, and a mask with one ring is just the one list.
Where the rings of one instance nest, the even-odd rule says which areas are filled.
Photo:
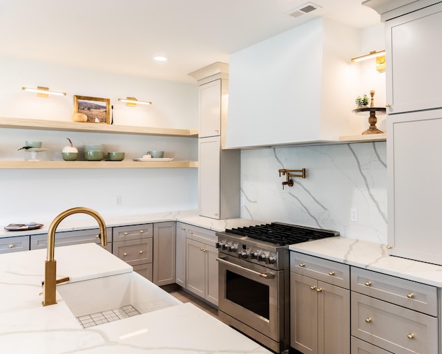
[[351, 323], [352, 335], [392, 353], [438, 353], [436, 317], [352, 292]]

